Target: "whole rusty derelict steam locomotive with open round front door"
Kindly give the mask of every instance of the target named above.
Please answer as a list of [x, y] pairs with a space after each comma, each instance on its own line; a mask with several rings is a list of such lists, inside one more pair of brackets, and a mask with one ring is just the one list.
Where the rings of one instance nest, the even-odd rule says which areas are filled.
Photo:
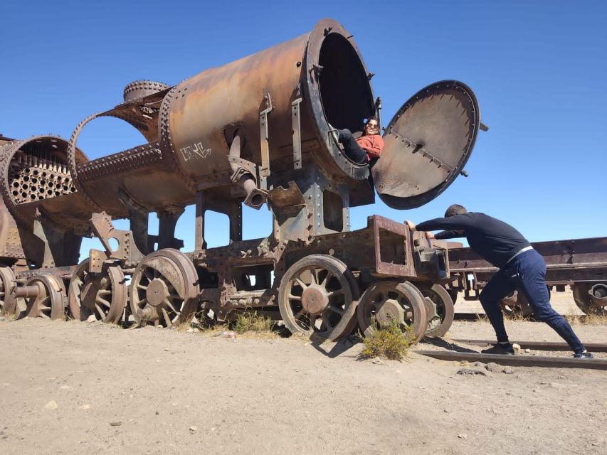
[[[370, 80], [352, 35], [326, 19], [178, 85], [133, 82], [124, 102], [83, 120], [69, 140], [1, 137], [4, 313], [167, 327], [253, 309], [330, 339], [391, 318], [418, 339], [444, 334], [453, 321], [447, 242], [379, 215], [352, 231], [349, 208], [376, 194], [392, 208], [436, 198], [465, 173], [480, 109], [462, 82], [428, 85], [385, 126], [369, 168], [331, 129], [379, 117]], [[79, 134], [103, 116], [146, 143], [88, 160]], [[243, 204], [268, 206], [271, 235], [242, 239]], [[196, 241], [181, 252], [175, 226], [188, 205]], [[209, 210], [228, 215], [229, 245], [207, 247]], [[148, 229], [154, 212], [158, 235]], [[129, 230], [112, 224], [121, 218]], [[83, 237], [103, 249], [80, 261]]]

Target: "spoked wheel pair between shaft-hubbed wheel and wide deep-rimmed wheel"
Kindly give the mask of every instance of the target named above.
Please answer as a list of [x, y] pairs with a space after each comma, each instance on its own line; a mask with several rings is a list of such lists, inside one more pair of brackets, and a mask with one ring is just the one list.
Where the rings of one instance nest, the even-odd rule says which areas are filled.
[[122, 269], [103, 264], [101, 272], [89, 272], [90, 259], [80, 262], [68, 289], [74, 319], [118, 323], [127, 304], [127, 285]]

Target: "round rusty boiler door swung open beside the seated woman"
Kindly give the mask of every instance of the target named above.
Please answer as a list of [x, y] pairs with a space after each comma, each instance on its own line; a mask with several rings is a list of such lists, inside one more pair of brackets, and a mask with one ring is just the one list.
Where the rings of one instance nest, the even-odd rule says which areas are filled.
[[472, 152], [480, 111], [472, 90], [443, 80], [417, 92], [391, 119], [372, 168], [375, 189], [391, 208], [416, 208], [445, 191]]

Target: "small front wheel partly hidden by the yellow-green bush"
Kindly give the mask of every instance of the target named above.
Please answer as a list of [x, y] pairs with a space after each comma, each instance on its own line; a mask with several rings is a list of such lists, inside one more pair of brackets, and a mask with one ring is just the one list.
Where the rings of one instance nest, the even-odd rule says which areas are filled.
[[412, 327], [415, 343], [421, 340], [428, 328], [423, 296], [409, 282], [388, 280], [371, 284], [361, 296], [357, 317], [365, 336], [371, 335], [377, 326], [385, 326], [391, 319], [398, 321], [403, 329]]

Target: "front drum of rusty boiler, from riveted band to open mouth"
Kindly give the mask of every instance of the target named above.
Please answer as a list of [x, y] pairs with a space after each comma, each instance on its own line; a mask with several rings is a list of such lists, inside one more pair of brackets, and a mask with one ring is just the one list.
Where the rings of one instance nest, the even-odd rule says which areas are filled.
[[373, 112], [374, 97], [352, 36], [328, 19], [310, 33], [176, 85], [160, 112], [162, 144], [194, 183], [225, 184], [231, 173], [226, 155], [236, 129], [246, 138], [241, 157], [262, 164], [260, 112], [272, 109], [270, 172], [288, 171], [293, 168], [292, 105], [298, 98], [304, 151], [315, 151], [337, 175], [366, 178], [367, 166], [347, 159], [329, 138], [329, 124], [361, 129]]

